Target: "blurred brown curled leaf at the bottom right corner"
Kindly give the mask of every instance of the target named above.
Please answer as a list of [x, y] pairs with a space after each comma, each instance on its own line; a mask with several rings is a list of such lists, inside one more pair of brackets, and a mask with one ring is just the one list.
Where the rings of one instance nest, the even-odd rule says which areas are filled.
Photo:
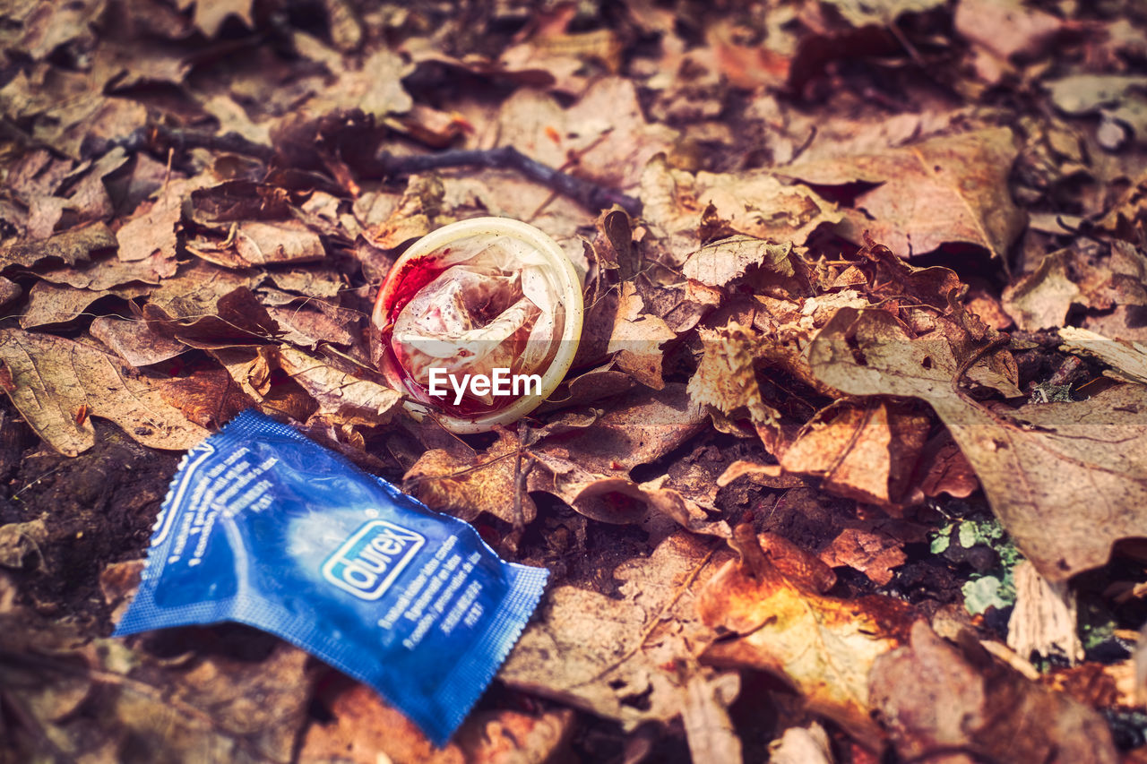
[[876, 660], [872, 701], [906, 759], [967, 751], [955, 761], [1119, 761], [1098, 712], [986, 654], [969, 660], [923, 621], [913, 624], [910, 646]]

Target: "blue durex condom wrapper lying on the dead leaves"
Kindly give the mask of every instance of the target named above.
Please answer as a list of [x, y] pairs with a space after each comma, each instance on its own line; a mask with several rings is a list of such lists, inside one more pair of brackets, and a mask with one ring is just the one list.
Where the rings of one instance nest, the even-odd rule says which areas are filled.
[[548, 575], [247, 411], [184, 459], [115, 636], [249, 624], [366, 683], [440, 746]]

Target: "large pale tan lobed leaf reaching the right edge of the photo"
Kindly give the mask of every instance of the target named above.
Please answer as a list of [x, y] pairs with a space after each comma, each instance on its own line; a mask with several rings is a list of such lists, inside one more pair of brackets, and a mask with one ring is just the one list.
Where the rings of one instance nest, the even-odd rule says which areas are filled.
[[1144, 385], [991, 412], [953, 390], [960, 364], [947, 342], [912, 340], [890, 314], [851, 309], [821, 330], [810, 362], [820, 379], [852, 395], [928, 402], [975, 468], [992, 510], [1048, 580], [1101, 566], [1111, 544], [1142, 535]]

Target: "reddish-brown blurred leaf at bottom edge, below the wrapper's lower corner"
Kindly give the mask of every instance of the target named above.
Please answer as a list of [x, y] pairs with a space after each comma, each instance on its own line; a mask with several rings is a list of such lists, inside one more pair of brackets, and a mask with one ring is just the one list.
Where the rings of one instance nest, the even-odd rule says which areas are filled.
[[[365, 685], [336, 684], [322, 693], [334, 719], [307, 727], [298, 761], [310, 764], [545, 764], [561, 757], [574, 711], [479, 710], [442, 748]], [[333, 697], [326, 697], [333, 695]]]

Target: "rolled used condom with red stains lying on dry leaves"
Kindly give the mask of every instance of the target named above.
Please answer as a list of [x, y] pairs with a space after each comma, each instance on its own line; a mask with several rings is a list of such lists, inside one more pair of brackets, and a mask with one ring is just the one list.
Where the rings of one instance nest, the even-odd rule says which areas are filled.
[[375, 303], [381, 366], [416, 415], [481, 432], [536, 408], [582, 334], [582, 286], [533, 226], [475, 218], [435, 231], [395, 263]]

